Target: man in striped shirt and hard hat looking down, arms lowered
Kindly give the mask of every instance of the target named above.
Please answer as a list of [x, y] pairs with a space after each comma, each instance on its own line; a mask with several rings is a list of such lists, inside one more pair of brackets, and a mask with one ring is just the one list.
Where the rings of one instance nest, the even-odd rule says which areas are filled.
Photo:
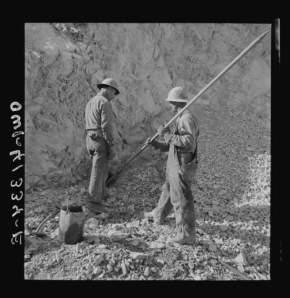
[[92, 172], [87, 207], [97, 212], [109, 213], [102, 199], [108, 198], [106, 179], [109, 173], [109, 160], [115, 157], [113, 145], [113, 111], [110, 101], [120, 94], [117, 83], [111, 78], [97, 84], [98, 92], [86, 105], [86, 146], [92, 159]]

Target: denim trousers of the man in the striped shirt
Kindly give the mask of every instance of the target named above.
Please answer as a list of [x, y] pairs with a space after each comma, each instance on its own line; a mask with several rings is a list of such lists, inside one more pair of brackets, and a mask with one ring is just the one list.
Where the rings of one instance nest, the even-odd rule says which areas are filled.
[[86, 147], [92, 159], [87, 201], [101, 202], [106, 195], [106, 179], [109, 173], [109, 147], [101, 133], [89, 131], [86, 138]]

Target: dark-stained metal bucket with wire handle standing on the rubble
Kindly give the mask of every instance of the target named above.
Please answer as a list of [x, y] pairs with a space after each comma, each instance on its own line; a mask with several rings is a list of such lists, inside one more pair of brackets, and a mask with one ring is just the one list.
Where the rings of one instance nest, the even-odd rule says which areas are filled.
[[[70, 197], [70, 196], [69, 196]], [[75, 244], [84, 240], [85, 207], [68, 206], [61, 207], [58, 240], [67, 244]]]

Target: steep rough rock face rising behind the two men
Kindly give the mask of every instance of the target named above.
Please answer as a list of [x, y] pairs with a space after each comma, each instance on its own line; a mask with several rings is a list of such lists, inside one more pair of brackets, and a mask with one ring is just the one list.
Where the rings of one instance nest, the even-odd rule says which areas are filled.
[[[175, 86], [192, 99], [269, 24], [25, 24], [25, 189], [73, 184], [90, 172], [84, 111], [112, 77], [113, 169], [174, 115]], [[70, 27], [77, 30], [69, 30]], [[70, 32], [72, 31], [72, 32]], [[228, 105], [270, 125], [271, 35], [195, 104]], [[153, 134], [151, 135], [151, 132]], [[115, 172], [115, 171], [114, 171]]]

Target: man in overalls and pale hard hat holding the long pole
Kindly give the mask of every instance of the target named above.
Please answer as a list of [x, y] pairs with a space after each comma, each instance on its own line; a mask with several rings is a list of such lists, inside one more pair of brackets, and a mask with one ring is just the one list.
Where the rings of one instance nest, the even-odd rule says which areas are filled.
[[[170, 102], [173, 111], [178, 113], [188, 103], [187, 99], [186, 90], [175, 87], [170, 90], [166, 100]], [[185, 109], [176, 119], [172, 132], [161, 125], [158, 134], [164, 137], [164, 141], [150, 141], [151, 138], [148, 138], [145, 144], [154, 146], [155, 150], [160, 149], [161, 152], [168, 151], [166, 181], [162, 186], [158, 206], [153, 211], [144, 212], [144, 217], [161, 225], [174, 208], [177, 235], [168, 238], [167, 243], [194, 243], [195, 210], [190, 188], [198, 165], [198, 122]]]

